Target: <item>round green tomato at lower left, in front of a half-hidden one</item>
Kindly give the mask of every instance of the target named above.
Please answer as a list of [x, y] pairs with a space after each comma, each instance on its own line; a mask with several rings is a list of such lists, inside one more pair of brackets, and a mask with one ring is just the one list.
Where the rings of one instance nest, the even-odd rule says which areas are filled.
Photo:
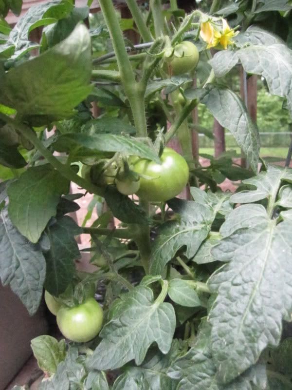
[[86, 343], [98, 335], [103, 321], [103, 311], [94, 298], [73, 308], [62, 306], [57, 313], [61, 333], [76, 343]]

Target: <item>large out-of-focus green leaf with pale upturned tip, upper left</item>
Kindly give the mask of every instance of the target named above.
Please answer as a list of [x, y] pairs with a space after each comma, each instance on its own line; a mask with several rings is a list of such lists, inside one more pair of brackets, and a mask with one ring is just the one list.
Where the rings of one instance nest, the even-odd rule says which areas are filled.
[[90, 36], [79, 24], [58, 45], [7, 72], [0, 102], [15, 108], [22, 120], [44, 125], [73, 116], [73, 108], [91, 91], [90, 78]]

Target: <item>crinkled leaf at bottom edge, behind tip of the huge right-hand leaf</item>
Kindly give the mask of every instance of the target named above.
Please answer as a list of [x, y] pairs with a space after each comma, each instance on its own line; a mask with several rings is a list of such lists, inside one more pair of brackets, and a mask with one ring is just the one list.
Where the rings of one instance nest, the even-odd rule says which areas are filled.
[[254, 385], [258, 389], [266, 389], [267, 386], [265, 366], [261, 363], [228, 385], [218, 383], [210, 348], [210, 326], [204, 322], [196, 337], [195, 346], [172, 364], [168, 375], [179, 380], [179, 390], [254, 390]]

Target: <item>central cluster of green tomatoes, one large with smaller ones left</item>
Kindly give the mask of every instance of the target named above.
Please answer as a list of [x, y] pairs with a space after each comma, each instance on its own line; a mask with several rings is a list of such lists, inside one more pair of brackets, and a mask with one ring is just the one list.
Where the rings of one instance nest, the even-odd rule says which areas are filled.
[[137, 156], [120, 163], [103, 159], [91, 166], [83, 165], [81, 176], [98, 187], [115, 185], [121, 194], [161, 202], [180, 194], [188, 182], [189, 169], [183, 156], [164, 148], [160, 164]]

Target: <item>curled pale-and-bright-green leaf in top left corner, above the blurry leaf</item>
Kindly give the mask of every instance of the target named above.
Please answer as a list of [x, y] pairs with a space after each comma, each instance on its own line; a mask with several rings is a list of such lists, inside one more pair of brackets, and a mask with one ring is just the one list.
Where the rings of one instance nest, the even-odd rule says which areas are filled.
[[58, 0], [30, 7], [16, 23], [6, 44], [0, 45], [0, 55], [9, 51], [13, 58], [17, 58], [37, 48], [39, 44], [29, 40], [29, 33], [36, 27], [65, 18], [72, 8], [73, 4], [70, 1]]

